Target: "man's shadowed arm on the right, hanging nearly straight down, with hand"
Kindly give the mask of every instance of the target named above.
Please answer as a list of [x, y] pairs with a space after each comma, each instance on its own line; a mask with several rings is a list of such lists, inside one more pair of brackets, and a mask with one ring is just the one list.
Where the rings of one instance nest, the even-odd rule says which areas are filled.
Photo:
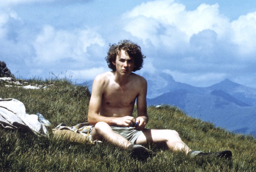
[[137, 113], [138, 117], [136, 118], [136, 122], [138, 122], [137, 130], [143, 130], [145, 125], [148, 122], [147, 115], [147, 81], [142, 78], [140, 92], [137, 96]]

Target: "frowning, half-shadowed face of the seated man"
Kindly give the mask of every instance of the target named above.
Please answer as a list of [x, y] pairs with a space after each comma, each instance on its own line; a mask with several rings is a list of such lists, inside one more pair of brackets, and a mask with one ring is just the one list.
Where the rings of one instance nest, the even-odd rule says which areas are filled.
[[129, 75], [135, 67], [134, 59], [126, 54], [124, 50], [121, 50], [120, 56], [116, 56], [116, 60], [113, 64], [116, 67], [116, 72], [122, 75]]

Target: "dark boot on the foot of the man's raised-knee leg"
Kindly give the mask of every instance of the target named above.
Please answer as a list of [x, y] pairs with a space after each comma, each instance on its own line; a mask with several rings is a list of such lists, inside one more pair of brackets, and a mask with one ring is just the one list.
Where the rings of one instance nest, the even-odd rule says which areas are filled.
[[128, 149], [130, 151], [130, 156], [138, 160], [145, 160], [153, 155], [153, 151], [137, 144], [131, 144], [128, 146]]

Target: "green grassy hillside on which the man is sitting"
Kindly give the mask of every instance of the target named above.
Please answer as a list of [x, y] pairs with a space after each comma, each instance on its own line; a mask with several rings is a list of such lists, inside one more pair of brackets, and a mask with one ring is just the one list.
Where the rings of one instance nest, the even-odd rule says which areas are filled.
[[[0, 98], [20, 100], [28, 114], [42, 113], [52, 128], [61, 122], [69, 126], [87, 122], [87, 87], [73, 86], [65, 80], [27, 82], [51, 85], [47, 89], [24, 89], [6, 87], [6, 82], [0, 82]], [[50, 127], [49, 137], [0, 128], [0, 171], [256, 171], [256, 140], [252, 136], [215, 128], [211, 123], [186, 116], [176, 107], [148, 107], [148, 116], [147, 128], [174, 129], [193, 150], [231, 150], [232, 160], [190, 158], [183, 152], [148, 145], [157, 155], [140, 162], [107, 142], [91, 145], [57, 139]]]

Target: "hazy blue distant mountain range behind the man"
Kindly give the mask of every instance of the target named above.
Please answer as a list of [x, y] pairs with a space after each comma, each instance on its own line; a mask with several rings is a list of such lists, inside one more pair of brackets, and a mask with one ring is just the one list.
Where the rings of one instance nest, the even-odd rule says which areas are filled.
[[[148, 82], [147, 105], [173, 105], [188, 116], [200, 118], [236, 133], [256, 135], [256, 89], [225, 79], [209, 87], [174, 81], [169, 74], [144, 73]], [[83, 84], [91, 90], [93, 81]]]

